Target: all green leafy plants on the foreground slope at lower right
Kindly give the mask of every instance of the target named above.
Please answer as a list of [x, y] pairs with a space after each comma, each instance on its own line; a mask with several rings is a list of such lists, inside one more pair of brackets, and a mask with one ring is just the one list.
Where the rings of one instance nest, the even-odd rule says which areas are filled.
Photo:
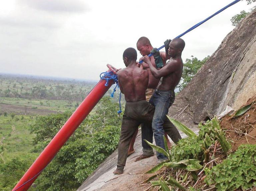
[[[181, 139], [170, 151], [165, 137], [165, 150], [147, 142], [153, 149], [166, 155], [168, 160], [149, 170], [147, 173], [156, 173], [161, 168], [165, 168], [162, 172], [160, 171], [148, 178], [144, 183], [150, 182], [151, 186], [160, 186], [159, 189], [163, 191], [171, 191], [169, 186], [172, 186], [172, 190], [175, 190], [175, 187], [180, 190], [191, 191], [202, 190], [204, 187], [203, 190], [207, 190], [203, 183], [201, 183], [201, 187], [196, 187], [199, 180], [203, 182], [202, 176], [205, 172], [204, 182], [207, 183], [209, 189], [216, 188], [218, 191], [246, 190], [256, 186], [256, 145], [241, 145], [235, 153], [230, 154], [230, 143], [221, 130], [216, 117], [204, 125], [199, 125], [198, 136], [191, 133], [184, 124], [172, 118], [169, 119], [189, 137]], [[209, 163], [220, 158], [215, 157], [217, 142], [220, 145], [218, 153], [221, 154], [219, 156], [229, 155], [223, 162], [212, 168], [207, 168]], [[214, 152], [210, 155], [209, 149], [214, 143]], [[211, 159], [210, 162], [209, 159]]]

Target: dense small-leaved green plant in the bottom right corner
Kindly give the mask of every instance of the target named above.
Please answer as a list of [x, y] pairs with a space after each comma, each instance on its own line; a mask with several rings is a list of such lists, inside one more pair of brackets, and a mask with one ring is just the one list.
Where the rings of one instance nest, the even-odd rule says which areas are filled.
[[256, 145], [241, 145], [223, 163], [205, 172], [205, 183], [216, 184], [218, 191], [256, 186]]

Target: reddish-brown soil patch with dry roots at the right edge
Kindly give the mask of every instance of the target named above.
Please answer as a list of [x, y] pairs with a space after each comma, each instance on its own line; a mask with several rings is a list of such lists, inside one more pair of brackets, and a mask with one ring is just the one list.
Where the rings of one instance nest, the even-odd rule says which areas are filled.
[[[245, 105], [251, 104], [255, 99], [256, 97], [249, 99]], [[239, 117], [224, 117], [220, 125], [226, 130], [227, 138], [233, 141], [232, 151], [237, 150], [241, 144], [256, 144], [256, 103]]]

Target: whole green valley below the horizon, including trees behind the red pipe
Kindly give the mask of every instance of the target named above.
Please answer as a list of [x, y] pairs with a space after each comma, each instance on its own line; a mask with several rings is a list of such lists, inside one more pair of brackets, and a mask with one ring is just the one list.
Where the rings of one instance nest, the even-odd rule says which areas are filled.
[[[17, 184], [93, 86], [0, 75], [0, 190]], [[112, 91], [44, 169], [35, 182], [36, 190], [77, 189], [116, 149], [121, 118], [118, 94], [111, 99]]]

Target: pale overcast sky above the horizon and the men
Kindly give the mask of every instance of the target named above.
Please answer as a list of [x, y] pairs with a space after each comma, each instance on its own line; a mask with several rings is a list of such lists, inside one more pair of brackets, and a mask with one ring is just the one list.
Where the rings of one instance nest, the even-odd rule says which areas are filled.
[[[0, 72], [98, 80], [106, 64], [124, 68], [123, 51], [141, 36], [158, 48], [232, 1], [2, 0]], [[183, 61], [211, 55], [231, 17], [253, 6], [238, 2], [184, 35]]]

